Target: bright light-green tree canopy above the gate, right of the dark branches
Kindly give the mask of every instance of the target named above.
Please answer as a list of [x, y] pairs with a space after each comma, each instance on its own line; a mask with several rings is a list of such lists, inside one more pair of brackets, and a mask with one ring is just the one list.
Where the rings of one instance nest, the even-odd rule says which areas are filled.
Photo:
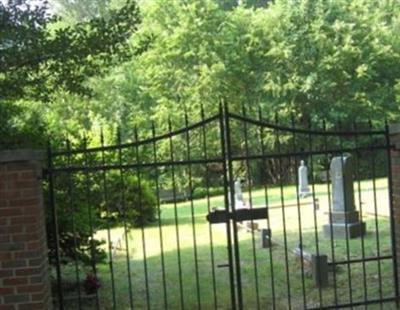
[[128, 128], [172, 114], [179, 126], [183, 106], [212, 112], [225, 98], [317, 121], [400, 115], [400, 2], [228, 2], [145, 2], [135, 40], [154, 41], [92, 80], [99, 114]]

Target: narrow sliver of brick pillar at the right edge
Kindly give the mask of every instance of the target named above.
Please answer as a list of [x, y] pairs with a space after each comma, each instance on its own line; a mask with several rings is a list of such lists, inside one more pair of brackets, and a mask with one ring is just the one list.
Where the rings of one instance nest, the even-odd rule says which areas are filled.
[[[393, 218], [396, 239], [397, 275], [400, 275], [400, 124], [391, 125], [389, 128], [390, 143], [394, 146], [391, 150], [392, 162], [392, 192], [393, 192]], [[397, 278], [400, 286], [400, 279]]]

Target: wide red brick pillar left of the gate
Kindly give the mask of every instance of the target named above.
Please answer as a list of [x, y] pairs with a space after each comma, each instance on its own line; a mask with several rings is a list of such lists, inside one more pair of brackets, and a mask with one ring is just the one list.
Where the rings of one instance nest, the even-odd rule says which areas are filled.
[[0, 152], [0, 310], [52, 308], [41, 158]]

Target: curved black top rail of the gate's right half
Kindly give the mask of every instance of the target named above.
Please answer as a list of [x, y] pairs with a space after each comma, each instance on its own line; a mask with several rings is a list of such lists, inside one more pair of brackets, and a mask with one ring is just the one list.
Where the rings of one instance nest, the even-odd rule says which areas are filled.
[[288, 131], [288, 132], [295, 132], [295, 133], [302, 133], [302, 134], [313, 134], [313, 135], [320, 135], [320, 136], [355, 136], [355, 135], [385, 135], [385, 130], [360, 130], [360, 131], [324, 131], [324, 130], [315, 130], [315, 129], [303, 129], [297, 127], [287, 127], [278, 124], [269, 123], [262, 120], [255, 120], [243, 115], [235, 114], [235, 113], [228, 113], [229, 118], [236, 119], [238, 121], [250, 123], [256, 126], [267, 127], [270, 129], [276, 129], [281, 131]]

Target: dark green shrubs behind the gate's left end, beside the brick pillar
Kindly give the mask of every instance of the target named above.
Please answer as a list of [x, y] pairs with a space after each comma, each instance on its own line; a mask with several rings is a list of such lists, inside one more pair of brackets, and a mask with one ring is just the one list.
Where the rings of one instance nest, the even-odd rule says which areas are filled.
[[[157, 200], [148, 181], [135, 175], [110, 172], [104, 187], [102, 175], [64, 174], [55, 182], [55, 201], [63, 263], [77, 260], [91, 265], [103, 262], [104, 241], [96, 239], [100, 229], [126, 224], [127, 228], [145, 226], [156, 219]], [[48, 195], [48, 193], [47, 193]], [[47, 210], [50, 261], [55, 263], [53, 219]]]

